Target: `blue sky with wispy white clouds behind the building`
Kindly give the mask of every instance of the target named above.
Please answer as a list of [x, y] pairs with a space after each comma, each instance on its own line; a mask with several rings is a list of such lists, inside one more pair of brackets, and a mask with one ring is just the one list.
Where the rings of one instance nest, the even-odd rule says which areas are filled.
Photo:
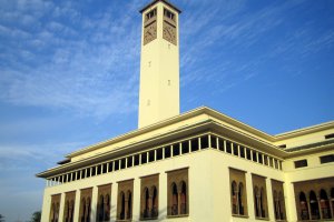
[[[137, 128], [148, 1], [0, 0], [0, 213], [41, 208], [37, 172]], [[175, 0], [181, 112], [271, 134], [334, 119], [334, 1]]]

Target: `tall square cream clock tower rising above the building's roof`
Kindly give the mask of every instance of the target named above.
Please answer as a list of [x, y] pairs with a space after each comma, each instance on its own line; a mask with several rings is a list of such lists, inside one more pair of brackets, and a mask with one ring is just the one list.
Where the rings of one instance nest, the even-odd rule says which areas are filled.
[[167, 0], [154, 0], [144, 9], [138, 127], [179, 114], [180, 10]]

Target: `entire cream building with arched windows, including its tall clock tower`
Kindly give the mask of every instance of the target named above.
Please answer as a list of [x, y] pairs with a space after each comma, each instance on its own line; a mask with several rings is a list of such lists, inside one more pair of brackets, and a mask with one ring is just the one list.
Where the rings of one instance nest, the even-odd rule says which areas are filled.
[[271, 135], [206, 107], [179, 114], [180, 10], [140, 12], [139, 128], [38, 173], [41, 220], [334, 221], [334, 121]]

